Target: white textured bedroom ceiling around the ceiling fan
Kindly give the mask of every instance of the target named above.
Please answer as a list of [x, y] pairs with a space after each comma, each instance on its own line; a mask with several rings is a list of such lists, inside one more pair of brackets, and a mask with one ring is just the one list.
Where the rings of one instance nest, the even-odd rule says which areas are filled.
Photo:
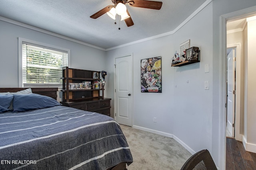
[[[0, 0], [0, 16], [110, 49], [173, 31], [206, 0], [162, 2], [160, 10], [136, 8], [126, 4], [134, 21], [131, 27], [119, 20], [116, 20], [115, 25], [115, 20], [107, 14], [97, 19], [90, 18], [102, 8], [112, 5], [111, 0]], [[118, 15], [116, 19], [119, 19]]]

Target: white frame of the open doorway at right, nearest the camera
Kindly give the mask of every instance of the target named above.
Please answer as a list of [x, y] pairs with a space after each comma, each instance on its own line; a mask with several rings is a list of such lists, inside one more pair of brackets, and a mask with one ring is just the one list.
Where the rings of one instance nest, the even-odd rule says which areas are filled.
[[220, 16], [220, 143], [219, 162], [220, 169], [226, 168], [226, 55], [227, 55], [227, 21], [239, 20], [256, 15], [256, 6], [231, 12]]

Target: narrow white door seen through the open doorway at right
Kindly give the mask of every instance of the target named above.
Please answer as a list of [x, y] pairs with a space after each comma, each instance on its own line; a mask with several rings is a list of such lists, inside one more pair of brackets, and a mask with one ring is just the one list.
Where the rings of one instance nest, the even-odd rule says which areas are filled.
[[232, 137], [235, 136], [235, 52], [235, 48], [232, 48], [227, 56], [227, 129]]

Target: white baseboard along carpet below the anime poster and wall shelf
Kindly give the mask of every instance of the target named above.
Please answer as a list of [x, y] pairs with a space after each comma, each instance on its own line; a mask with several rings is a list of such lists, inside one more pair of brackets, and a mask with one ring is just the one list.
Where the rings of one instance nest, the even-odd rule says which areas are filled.
[[170, 138], [174, 139], [175, 141], [177, 141], [180, 145], [182, 145], [182, 147], [184, 147], [186, 150], [188, 150], [188, 152], [190, 152], [191, 154], [195, 154], [196, 153], [193, 149], [191, 149], [188, 145], [186, 145], [186, 143], [181, 141], [175, 135], [172, 135], [170, 133], [161, 132], [161, 131], [156, 131], [156, 130], [153, 130], [153, 129], [148, 129], [148, 128], [145, 128], [145, 127], [136, 126], [136, 125], [133, 125], [132, 127], [134, 129], [139, 129], [139, 130], [142, 130], [142, 131], [147, 131], [147, 132], [155, 133], [155, 134], [158, 134], [158, 135], [170, 137]]

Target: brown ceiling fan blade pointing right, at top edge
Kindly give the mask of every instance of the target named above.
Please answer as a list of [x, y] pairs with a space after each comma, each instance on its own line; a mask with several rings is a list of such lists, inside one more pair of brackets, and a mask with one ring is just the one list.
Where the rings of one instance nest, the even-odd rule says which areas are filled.
[[151, 0], [128, 0], [130, 6], [160, 10], [163, 2]]

